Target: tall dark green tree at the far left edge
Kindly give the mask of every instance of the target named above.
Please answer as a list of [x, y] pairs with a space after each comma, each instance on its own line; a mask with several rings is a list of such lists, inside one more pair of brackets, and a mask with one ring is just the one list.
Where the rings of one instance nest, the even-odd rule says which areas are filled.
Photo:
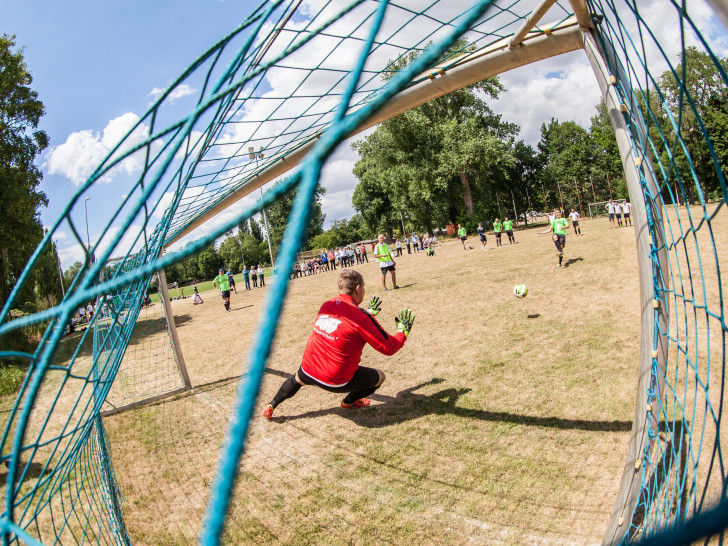
[[[0, 37], [0, 307], [43, 236], [38, 209], [48, 204], [38, 186], [36, 156], [48, 146], [38, 130], [45, 113], [15, 36]], [[32, 295], [26, 284], [21, 301]]]

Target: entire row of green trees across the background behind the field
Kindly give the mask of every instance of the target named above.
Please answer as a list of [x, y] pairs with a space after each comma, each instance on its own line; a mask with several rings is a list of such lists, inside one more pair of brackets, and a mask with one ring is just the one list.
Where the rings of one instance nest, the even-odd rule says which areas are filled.
[[[456, 49], [468, 51], [461, 42]], [[413, 52], [391, 63], [391, 74], [411, 62]], [[642, 118], [655, 143], [653, 163], [666, 173], [661, 189], [666, 201], [694, 202], [726, 198], [721, 166], [728, 162], [728, 88], [713, 60], [695, 47], [686, 48], [674, 72], [654, 88], [633, 90]], [[728, 72], [726, 59], [718, 60]], [[679, 79], [678, 79], [679, 77]], [[15, 37], [0, 38], [0, 305], [17, 283], [44, 235], [39, 211], [48, 199], [40, 190], [43, 175], [35, 160], [48, 145], [40, 130], [45, 112]], [[383, 122], [353, 144], [358, 184], [352, 204], [357, 213], [324, 230], [319, 186], [301, 250], [334, 248], [402, 231], [432, 231], [462, 223], [522, 215], [530, 210], [571, 207], [586, 213], [590, 202], [627, 197], [614, 132], [603, 103], [588, 128], [551, 119], [541, 126], [536, 147], [518, 140], [519, 127], [490, 107], [506, 90], [498, 77], [454, 91]], [[690, 94], [687, 100], [686, 93]], [[662, 102], [664, 98], [668, 108]], [[676, 117], [675, 113], [680, 115]], [[676, 146], [676, 135], [684, 147]], [[710, 136], [708, 136], [710, 135]], [[697, 185], [693, 177], [700, 180]], [[266, 209], [273, 255], [278, 252], [295, 189]], [[527, 221], [527, 217], [524, 218]], [[260, 221], [242, 222], [222, 241], [187, 256], [168, 268], [170, 282], [211, 278], [220, 267], [235, 271], [247, 265], [270, 265]], [[18, 312], [55, 305], [68, 289], [81, 262], [59, 279], [55, 243], [44, 250], [18, 299]]]

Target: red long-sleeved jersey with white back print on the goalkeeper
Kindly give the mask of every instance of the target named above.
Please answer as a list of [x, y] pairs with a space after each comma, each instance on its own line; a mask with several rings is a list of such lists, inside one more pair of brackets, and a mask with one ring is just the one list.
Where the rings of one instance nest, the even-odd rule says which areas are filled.
[[319, 309], [301, 367], [319, 383], [340, 387], [354, 377], [364, 345], [393, 355], [406, 339], [402, 332], [389, 335], [351, 296], [339, 294]]

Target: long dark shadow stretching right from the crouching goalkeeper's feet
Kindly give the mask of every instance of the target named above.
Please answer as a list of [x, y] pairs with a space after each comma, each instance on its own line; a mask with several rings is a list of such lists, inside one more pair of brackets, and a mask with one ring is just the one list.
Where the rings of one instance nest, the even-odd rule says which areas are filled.
[[[469, 388], [449, 388], [431, 395], [415, 394], [414, 392], [422, 387], [438, 385], [444, 382], [444, 379], [433, 378], [426, 383], [421, 383], [415, 387], [400, 391], [395, 397], [375, 393], [371, 398], [382, 402], [382, 404], [366, 410], [345, 410], [340, 407], [335, 407], [325, 410], [309, 411], [299, 415], [273, 417], [272, 421], [282, 423], [288, 420], [310, 419], [323, 415], [340, 414], [342, 417], [350, 419], [359, 426], [381, 428], [404, 423], [425, 415], [455, 415], [463, 419], [478, 419], [480, 421], [513, 423], [517, 425], [563, 430], [628, 432], [632, 429], [631, 421], [587, 421], [585, 419], [566, 419], [557, 416], [540, 417], [457, 406], [456, 404], [459, 398], [472, 390]], [[302, 394], [305, 396], [305, 390], [299, 392], [296, 398], [301, 398]]]

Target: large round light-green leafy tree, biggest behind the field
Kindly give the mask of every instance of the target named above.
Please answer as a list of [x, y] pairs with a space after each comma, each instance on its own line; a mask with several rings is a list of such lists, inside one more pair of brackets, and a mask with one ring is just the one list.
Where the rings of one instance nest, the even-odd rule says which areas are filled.
[[[448, 55], [469, 47], [461, 41], [453, 50]], [[392, 72], [417, 55], [392, 62]], [[486, 102], [502, 91], [498, 78], [488, 78], [387, 120], [352, 145], [360, 156], [353, 204], [370, 228], [391, 237], [407, 211], [432, 233], [461, 214], [469, 218], [490, 198], [492, 183], [512, 162], [508, 142], [518, 129]]]

